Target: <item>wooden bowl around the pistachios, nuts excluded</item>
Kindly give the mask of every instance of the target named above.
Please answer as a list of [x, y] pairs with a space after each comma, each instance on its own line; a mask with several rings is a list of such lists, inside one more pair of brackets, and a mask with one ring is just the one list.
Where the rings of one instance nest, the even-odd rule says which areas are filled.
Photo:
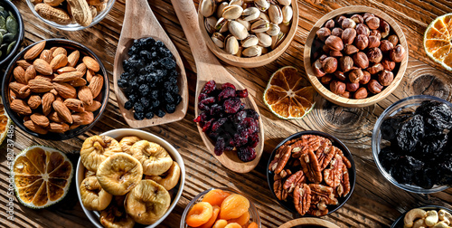
[[[204, 39], [205, 43], [207, 43], [207, 47], [223, 62], [226, 62], [228, 64], [231, 64], [232, 66], [236, 67], [242, 67], [242, 68], [255, 68], [260, 67], [263, 65], [266, 65], [270, 62], [275, 61], [278, 59], [278, 57], [283, 53], [286, 52], [286, 49], [292, 42], [292, 40], [295, 37], [295, 33], [297, 33], [297, 27], [298, 27], [298, 4], [297, 0], [292, 0], [291, 3], [292, 10], [294, 11], [294, 16], [292, 18], [292, 24], [290, 25], [290, 30], [286, 34], [286, 38], [284, 41], [278, 45], [278, 47], [275, 50], [272, 50], [271, 52], [268, 52], [266, 54], [263, 54], [258, 57], [237, 57], [235, 55], [232, 55], [230, 53], [225, 52], [223, 49], [219, 48], [215, 43], [212, 42], [211, 36], [207, 31], [205, 30], [204, 26], [204, 16], [202, 14], [198, 14], [198, 22], [199, 26], [201, 28], [202, 33], [202, 39]], [[201, 3], [200, 3], [201, 7]], [[199, 12], [199, 10], [198, 10]]]

